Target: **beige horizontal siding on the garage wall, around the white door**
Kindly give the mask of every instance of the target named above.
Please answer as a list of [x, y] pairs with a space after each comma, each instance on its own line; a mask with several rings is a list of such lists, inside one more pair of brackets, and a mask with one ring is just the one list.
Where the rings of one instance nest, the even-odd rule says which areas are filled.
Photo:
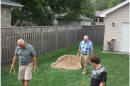
[[[108, 50], [108, 40], [115, 39], [114, 51], [120, 52], [121, 24], [122, 22], [129, 22], [129, 20], [129, 3], [106, 15], [104, 19], [104, 51]], [[114, 27], [112, 26], [113, 22]]]

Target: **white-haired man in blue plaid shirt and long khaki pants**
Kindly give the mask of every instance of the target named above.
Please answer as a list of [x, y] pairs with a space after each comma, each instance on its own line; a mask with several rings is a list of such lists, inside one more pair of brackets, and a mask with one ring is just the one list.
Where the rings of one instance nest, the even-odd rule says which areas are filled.
[[83, 69], [82, 75], [85, 75], [88, 71], [90, 54], [93, 55], [93, 43], [90, 40], [88, 40], [87, 35], [85, 35], [83, 39], [84, 40], [80, 42], [77, 56], [79, 56], [81, 53], [80, 63]]

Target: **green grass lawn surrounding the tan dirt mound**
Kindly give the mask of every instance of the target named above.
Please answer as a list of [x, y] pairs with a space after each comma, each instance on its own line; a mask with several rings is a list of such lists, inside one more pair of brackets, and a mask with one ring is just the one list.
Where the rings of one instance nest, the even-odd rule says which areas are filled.
[[[82, 70], [69, 70], [50, 68], [50, 64], [64, 54], [76, 55], [78, 44], [59, 49], [38, 56], [39, 73], [33, 72], [30, 86], [89, 86], [91, 80], [92, 66], [86, 76], [82, 76]], [[94, 54], [101, 58], [101, 64], [106, 68], [107, 86], [129, 86], [129, 56], [124, 54], [102, 53], [102, 45], [94, 44]], [[22, 86], [17, 80], [18, 72], [9, 74], [9, 67], [1, 68], [1, 86]], [[18, 68], [16, 67], [16, 71]]]

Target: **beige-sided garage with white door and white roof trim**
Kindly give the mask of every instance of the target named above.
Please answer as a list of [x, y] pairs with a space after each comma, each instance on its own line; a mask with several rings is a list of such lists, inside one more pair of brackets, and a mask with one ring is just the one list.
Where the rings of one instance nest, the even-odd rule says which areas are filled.
[[115, 39], [114, 51], [130, 53], [129, 50], [129, 15], [130, 1], [126, 0], [100, 15], [104, 17], [104, 51], [108, 50], [108, 41]]

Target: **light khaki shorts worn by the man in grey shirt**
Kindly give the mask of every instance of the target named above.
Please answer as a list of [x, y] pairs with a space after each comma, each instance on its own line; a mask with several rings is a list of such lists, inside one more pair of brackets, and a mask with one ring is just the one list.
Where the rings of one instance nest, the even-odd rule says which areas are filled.
[[33, 71], [33, 63], [28, 65], [19, 65], [18, 80], [31, 80]]

